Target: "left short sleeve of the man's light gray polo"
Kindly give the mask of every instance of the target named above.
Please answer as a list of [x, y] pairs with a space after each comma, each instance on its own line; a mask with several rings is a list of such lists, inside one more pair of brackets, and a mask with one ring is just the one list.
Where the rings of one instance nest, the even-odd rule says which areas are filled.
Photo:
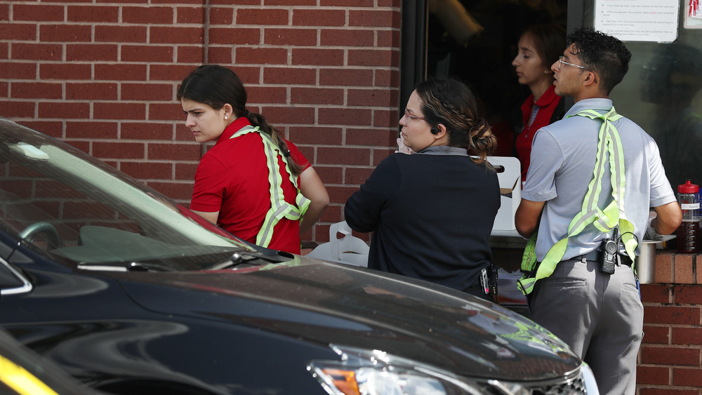
[[555, 199], [555, 175], [563, 165], [563, 151], [553, 136], [539, 129], [531, 144], [531, 158], [527, 180], [524, 182], [522, 198], [529, 201]]

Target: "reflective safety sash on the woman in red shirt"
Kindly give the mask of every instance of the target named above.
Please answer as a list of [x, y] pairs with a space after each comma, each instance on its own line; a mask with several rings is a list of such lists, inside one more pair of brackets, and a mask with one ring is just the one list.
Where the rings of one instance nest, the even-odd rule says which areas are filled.
[[[298, 187], [298, 176], [293, 175], [288, 164], [288, 158], [283, 152], [280, 152], [278, 146], [270, 139], [265, 133], [261, 133], [259, 127], [256, 126], [245, 126], [241, 128], [237, 133], [234, 133], [230, 138], [237, 138], [246, 133], [257, 132], [263, 142], [263, 152], [266, 156], [266, 164], [268, 166], [268, 184], [270, 185], [270, 210], [265, 215], [265, 220], [263, 220], [263, 225], [261, 226], [258, 235], [256, 235], [256, 244], [258, 246], [267, 247], [273, 238], [273, 228], [282, 220], [282, 218], [287, 218], [289, 220], [300, 220], [307, 211], [307, 207], [310, 206], [310, 200], [303, 196]], [[278, 166], [278, 155], [280, 155], [285, 163], [285, 170], [290, 175], [290, 182], [295, 185], [297, 189], [297, 196], [295, 197], [295, 205], [285, 201], [285, 196], [283, 193], [283, 178], [280, 175], [280, 167]]]

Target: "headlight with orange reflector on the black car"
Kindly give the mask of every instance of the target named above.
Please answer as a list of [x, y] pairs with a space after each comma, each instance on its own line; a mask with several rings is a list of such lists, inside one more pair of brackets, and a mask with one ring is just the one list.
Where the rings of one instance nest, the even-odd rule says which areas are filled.
[[314, 360], [307, 366], [331, 395], [494, 394], [486, 391], [491, 387], [486, 380], [471, 382], [465, 377], [378, 350], [334, 345], [331, 348], [341, 356], [341, 361]]

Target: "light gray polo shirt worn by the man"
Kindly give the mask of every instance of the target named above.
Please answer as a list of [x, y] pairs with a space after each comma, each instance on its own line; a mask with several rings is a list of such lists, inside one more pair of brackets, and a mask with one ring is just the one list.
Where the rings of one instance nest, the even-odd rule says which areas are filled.
[[[571, 115], [583, 109], [594, 109], [605, 114], [611, 107], [609, 99], [581, 100], [566, 113], [564, 119], [539, 129], [534, 135], [522, 199], [546, 202], [536, 240], [536, 259], [539, 262], [557, 241], [567, 235], [568, 225], [582, 209], [595, 168], [597, 135], [602, 121]], [[634, 225], [637, 239], [642, 241], [650, 208], [675, 201], [675, 193], [665, 177], [654, 139], [625, 117], [615, 121], [614, 126], [624, 150], [624, 211]], [[613, 200], [609, 176], [608, 171], [603, 178], [600, 208]], [[571, 238], [562, 260], [597, 249], [604, 236], [597, 228], [588, 225], [583, 232]]]

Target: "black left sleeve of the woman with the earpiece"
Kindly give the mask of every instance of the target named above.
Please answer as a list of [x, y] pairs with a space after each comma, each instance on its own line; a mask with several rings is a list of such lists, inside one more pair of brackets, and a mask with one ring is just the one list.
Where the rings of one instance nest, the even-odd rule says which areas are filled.
[[392, 156], [383, 159], [361, 189], [346, 201], [344, 217], [351, 229], [364, 233], [378, 229], [381, 212], [395, 196], [399, 182], [397, 162]]

